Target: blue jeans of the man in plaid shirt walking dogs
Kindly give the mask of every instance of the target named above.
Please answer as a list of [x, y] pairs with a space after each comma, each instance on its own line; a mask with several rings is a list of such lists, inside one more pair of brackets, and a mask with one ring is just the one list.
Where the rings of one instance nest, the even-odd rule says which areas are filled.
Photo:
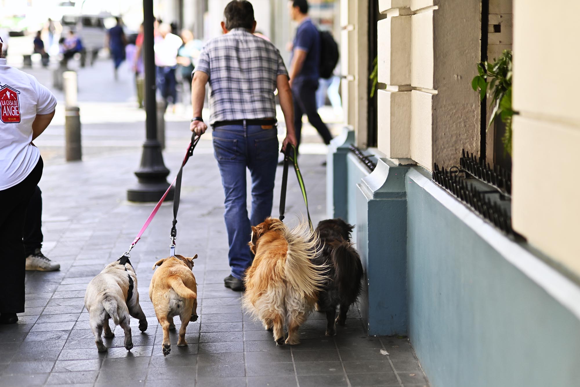
[[[230, 245], [231, 275], [242, 279], [252, 265], [248, 247], [252, 229], [272, 212], [274, 178], [278, 162], [276, 126], [227, 125], [213, 129], [213, 154], [218, 160], [226, 196], [224, 220]], [[246, 168], [252, 177], [252, 214], [246, 205]]]

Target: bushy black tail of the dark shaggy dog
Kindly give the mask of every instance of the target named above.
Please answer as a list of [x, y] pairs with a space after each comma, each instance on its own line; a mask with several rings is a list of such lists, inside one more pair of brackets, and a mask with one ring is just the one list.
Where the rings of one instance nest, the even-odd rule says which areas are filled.
[[334, 242], [331, 247], [333, 280], [338, 284], [340, 293], [356, 297], [360, 292], [362, 278], [362, 264], [358, 251], [346, 240]]

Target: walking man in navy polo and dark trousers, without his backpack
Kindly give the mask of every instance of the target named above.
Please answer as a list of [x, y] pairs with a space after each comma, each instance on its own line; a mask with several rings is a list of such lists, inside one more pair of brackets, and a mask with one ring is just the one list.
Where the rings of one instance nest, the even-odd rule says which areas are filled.
[[316, 110], [316, 89], [318, 89], [318, 67], [320, 65], [320, 32], [308, 16], [306, 0], [288, 2], [292, 20], [298, 22], [296, 36], [292, 42], [290, 63], [290, 86], [294, 101], [294, 128], [296, 141], [300, 144], [302, 115], [318, 130], [325, 144], [330, 144], [332, 135]]

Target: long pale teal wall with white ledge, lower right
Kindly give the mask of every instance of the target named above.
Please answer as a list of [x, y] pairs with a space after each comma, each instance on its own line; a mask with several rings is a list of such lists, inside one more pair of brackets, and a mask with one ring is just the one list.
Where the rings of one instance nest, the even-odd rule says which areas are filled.
[[431, 385], [579, 386], [579, 287], [425, 171], [405, 183], [409, 338]]

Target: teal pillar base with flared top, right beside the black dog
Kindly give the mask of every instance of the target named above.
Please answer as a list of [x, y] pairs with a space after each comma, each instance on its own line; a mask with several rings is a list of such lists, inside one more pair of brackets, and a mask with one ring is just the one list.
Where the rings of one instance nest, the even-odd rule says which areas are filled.
[[361, 314], [370, 335], [407, 334], [407, 170], [378, 159], [357, 184], [357, 249], [367, 291]]

